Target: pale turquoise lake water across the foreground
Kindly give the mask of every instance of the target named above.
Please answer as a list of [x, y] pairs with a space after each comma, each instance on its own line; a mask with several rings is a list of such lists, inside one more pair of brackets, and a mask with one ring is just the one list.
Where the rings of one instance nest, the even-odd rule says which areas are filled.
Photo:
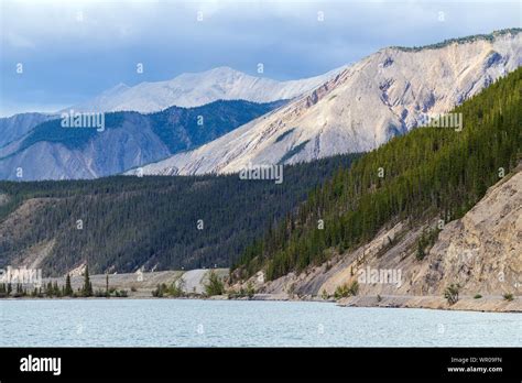
[[331, 303], [0, 300], [0, 347], [509, 347], [522, 315]]

